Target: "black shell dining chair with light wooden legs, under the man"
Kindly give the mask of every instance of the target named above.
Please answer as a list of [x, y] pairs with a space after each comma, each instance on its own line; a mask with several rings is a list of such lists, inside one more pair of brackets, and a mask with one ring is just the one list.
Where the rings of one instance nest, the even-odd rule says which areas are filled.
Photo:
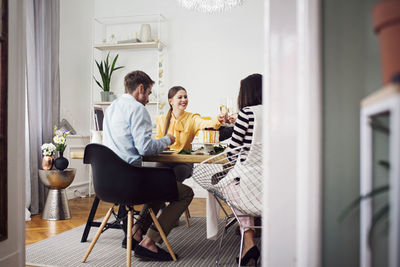
[[[113, 213], [113, 208], [122, 205], [128, 210], [126, 265], [131, 266], [132, 221], [134, 206], [153, 201], [171, 202], [178, 198], [176, 178], [170, 168], [136, 167], [122, 160], [108, 147], [89, 144], [85, 148], [83, 162], [92, 167], [93, 186], [96, 197], [113, 203], [101, 223], [95, 237], [82, 260], [85, 262], [100, 237], [103, 228]], [[150, 216], [161, 235], [171, 257], [176, 256], [152, 209]]]

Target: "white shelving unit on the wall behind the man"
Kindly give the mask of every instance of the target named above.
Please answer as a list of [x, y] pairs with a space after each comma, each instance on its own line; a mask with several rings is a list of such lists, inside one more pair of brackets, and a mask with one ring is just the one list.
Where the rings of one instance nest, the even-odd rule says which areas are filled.
[[[104, 60], [108, 53], [111, 58], [118, 54], [116, 66], [125, 67], [113, 73], [110, 86], [110, 90], [118, 96], [124, 93], [123, 77], [126, 73], [133, 70], [145, 71], [155, 81], [150, 102], [146, 105], [154, 122], [160, 112], [160, 91], [164, 86], [164, 53], [167, 47], [164, 41], [165, 22], [166, 20], [161, 14], [93, 19], [92, 76], [101, 80], [95, 60]], [[140, 41], [143, 24], [149, 24], [151, 28], [151, 37], [147, 42]], [[98, 106], [105, 111], [111, 102], [101, 102], [99, 92], [100, 88], [92, 80], [92, 107]], [[91, 121], [94, 121], [93, 110]], [[91, 129], [93, 128], [94, 123], [91, 123]]]

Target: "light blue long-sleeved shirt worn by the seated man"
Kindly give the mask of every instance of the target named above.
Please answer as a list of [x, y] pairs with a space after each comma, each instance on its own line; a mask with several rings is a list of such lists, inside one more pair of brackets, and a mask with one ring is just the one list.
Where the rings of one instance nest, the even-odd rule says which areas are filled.
[[142, 156], [158, 154], [171, 142], [168, 136], [151, 137], [149, 112], [129, 94], [107, 108], [103, 124], [103, 144], [130, 164], [140, 164]]

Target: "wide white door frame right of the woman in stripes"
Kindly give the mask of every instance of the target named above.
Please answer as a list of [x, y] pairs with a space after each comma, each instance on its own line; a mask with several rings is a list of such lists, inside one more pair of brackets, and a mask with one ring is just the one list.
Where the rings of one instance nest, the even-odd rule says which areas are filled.
[[320, 5], [265, 1], [263, 266], [321, 266]]

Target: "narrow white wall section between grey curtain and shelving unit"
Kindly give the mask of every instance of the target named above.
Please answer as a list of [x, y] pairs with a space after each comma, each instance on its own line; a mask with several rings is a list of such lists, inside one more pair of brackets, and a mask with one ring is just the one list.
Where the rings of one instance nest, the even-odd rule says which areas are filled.
[[89, 133], [93, 0], [60, 1], [60, 118]]

